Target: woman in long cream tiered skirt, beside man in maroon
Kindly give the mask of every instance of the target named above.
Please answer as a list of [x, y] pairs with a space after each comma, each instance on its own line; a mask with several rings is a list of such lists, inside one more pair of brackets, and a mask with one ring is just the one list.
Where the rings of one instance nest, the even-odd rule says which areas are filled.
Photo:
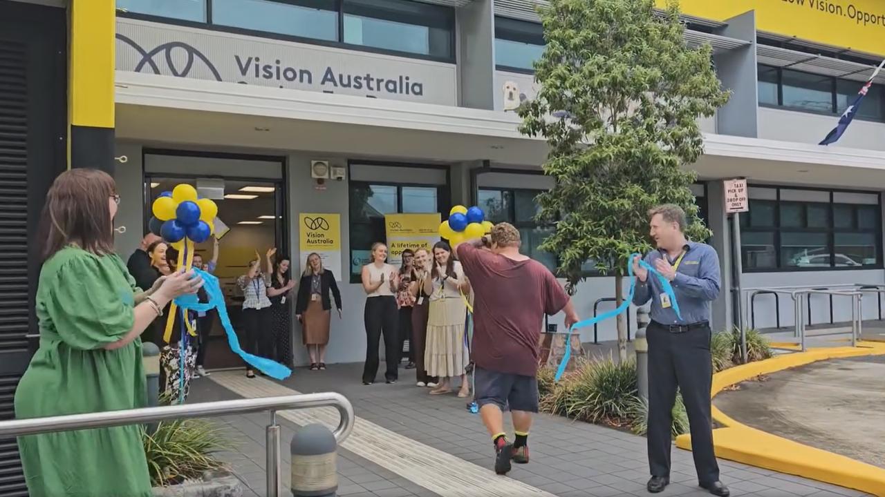
[[424, 363], [427, 374], [438, 376], [440, 381], [430, 394], [449, 394], [451, 378], [460, 376], [458, 397], [466, 397], [470, 394], [470, 385], [465, 368], [470, 356], [464, 342], [467, 306], [461, 294], [468, 293], [470, 286], [448, 243], [436, 243], [434, 259], [434, 268], [424, 282], [425, 291], [430, 295]]

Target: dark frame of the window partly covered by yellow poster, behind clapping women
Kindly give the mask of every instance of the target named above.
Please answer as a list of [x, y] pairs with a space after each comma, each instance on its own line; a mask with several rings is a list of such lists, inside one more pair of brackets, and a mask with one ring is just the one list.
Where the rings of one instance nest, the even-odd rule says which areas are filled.
[[[419, 169], [438, 169], [444, 170], [446, 172], [445, 184], [435, 184], [435, 183], [415, 183], [415, 182], [396, 182], [396, 181], [384, 181], [384, 180], [350, 180], [352, 175], [350, 174], [350, 167], [352, 165], [385, 165], [389, 167], [404, 167], [404, 168], [419, 168]], [[354, 222], [353, 217], [350, 216], [350, 208], [351, 208], [351, 191], [354, 186], [366, 185], [366, 186], [379, 186], [379, 187], [396, 187], [396, 213], [403, 212], [403, 188], [406, 187], [417, 187], [417, 188], [436, 188], [436, 210], [440, 213], [440, 218], [445, 219], [448, 218], [449, 211], [451, 210], [451, 172], [450, 168], [445, 165], [438, 164], [402, 164], [395, 162], [387, 162], [387, 161], [371, 161], [371, 160], [356, 160], [352, 159], [348, 161], [347, 164], [347, 256], [348, 256], [348, 264], [347, 264], [347, 273], [350, 275], [350, 283], [351, 284], [361, 284], [362, 280], [360, 275], [354, 275], [350, 273], [350, 261], [353, 260], [353, 226], [354, 225], [365, 225], [363, 221]], [[393, 212], [390, 212], [393, 214]], [[387, 233], [384, 233], [383, 240], [384, 243], [387, 243]], [[343, 268], [342, 268], [343, 271]]]

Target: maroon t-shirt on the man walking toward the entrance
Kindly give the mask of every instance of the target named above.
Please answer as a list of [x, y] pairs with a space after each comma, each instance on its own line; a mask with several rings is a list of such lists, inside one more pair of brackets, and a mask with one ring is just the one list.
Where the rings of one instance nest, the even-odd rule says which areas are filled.
[[473, 288], [473, 362], [524, 376], [538, 371], [544, 314], [556, 314], [568, 294], [543, 264], [514, 261], [469, 243], [458, 259]]

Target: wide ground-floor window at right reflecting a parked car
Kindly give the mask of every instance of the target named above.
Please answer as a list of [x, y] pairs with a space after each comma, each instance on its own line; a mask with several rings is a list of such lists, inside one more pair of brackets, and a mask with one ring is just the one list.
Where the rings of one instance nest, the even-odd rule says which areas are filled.
[[741, 243], [747, 271], [881, 267], [878, 195], [751, 187]]

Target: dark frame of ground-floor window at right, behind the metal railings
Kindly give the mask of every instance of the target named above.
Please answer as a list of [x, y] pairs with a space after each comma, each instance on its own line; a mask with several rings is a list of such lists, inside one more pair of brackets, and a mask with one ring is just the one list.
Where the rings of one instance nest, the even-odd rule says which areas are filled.
[[[883, 265], [883, 246], [885, 243], [882, 241], [882, 199], [881, 194], [875, 191], [867, 191], [867, 190], [850, 190], [850, 189], [842, 189], [842, 188], [820, 188], [820, 187], [792, 187], [792, 186], [775, 186], [775, 185], [750, 185], [750, 187], [760, 187], [766, 189], [775, 190], [775, 198], [772, 199], [757, 199], [774, 203], [774, 225], [773, 226], [741, 226], [741, 233], [773, 233], [773, 246], [774, 246], [774, 257], [776, 261], [775, 267], [766, 267], [766, 268], [755, 268], [748, 267], [748, 265], [743, 261], [743, 246], [741, 248], [742, 257], [741, 262], [743, 266], [744, 273], [754, 273], [754, 272], [797, 272], [797, 271], [869, 271], [869, 270], [881, 270], [885, 265]], [[829, 211], [829, 221], [826, 228], [819, 227], [809, 227], [808, 219], [807, 219], [807, 205], [812, 203], [820, 202], [803, 202], [803, 201], [794, 201], [794, 200], [781, 200], [781, 190], [789, 189], [789, 190], [804, 190], [804, 191], [815, 191], [815, 192], [827, 192], [829, 195], [829, 200], [825, 205], [827, 205], [827, 210]], [[876, 203], [835, 203], [834, 198], [836, 193], [850, 193], [850, 194], [864, 194], [864, 195], [877, 195]], [[750, 198], [750, 201], [754, 200]], [[781, 207], [783, 203], [799, 203], [805, 205], [804, 210], [804, 227], [792, 227], [792, 226], [782, 226], [781, 222]], [[836, 228], [835, 227], [835, 206], [836, 205], [850, 205], [852, 207], [852, 228]], [[858, 207], [859, 206], [874, 206], [876, 211], [878, 212], [877, 222], [874, 228], [860, 228], [858, 223]], [[747, 217], [747, 223], [750, 223], [752, 219], [752, 210], [750, 210], [750, 215]], [[742, 217], [743, 220], [743, 217]], [[743, 223], [742, 223], [743, 225]], [[830, 259], [829, 267], [797, 267], [797, 266], [788, 266], [783, 264], [781, 260], [782, 257], [782, 236], [781, 233], [787, 231], [789, 233], [827, 233], [827, 255]], [[835, 266], [835, 234], [836, 233], [872, 233], [875, 236], [875, 250], [876, 250], [876, 263], [870, 265], [859, 265], [859, 266]]]

